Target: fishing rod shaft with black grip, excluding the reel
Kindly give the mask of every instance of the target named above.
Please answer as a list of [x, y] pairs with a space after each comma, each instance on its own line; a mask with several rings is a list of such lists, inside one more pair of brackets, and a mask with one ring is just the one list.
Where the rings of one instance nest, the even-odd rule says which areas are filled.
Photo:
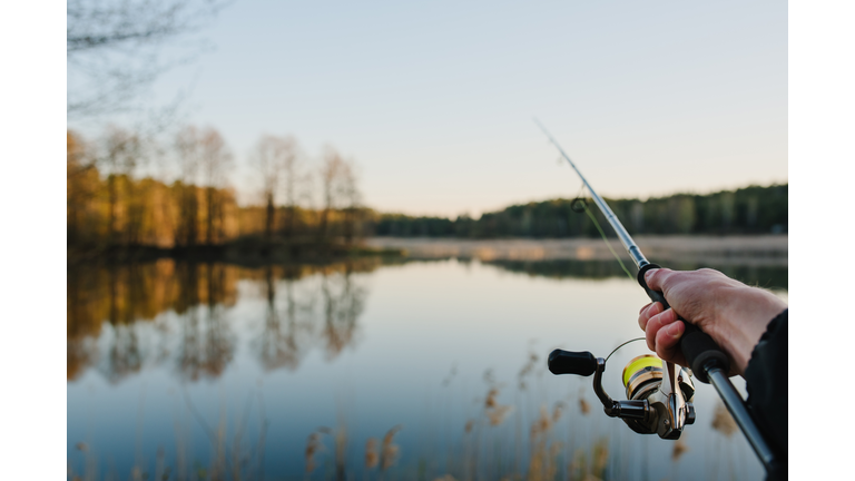
[[[597, 207], [600, 208], [602, 215], [606, 216], [606, 219], [615, 229], [615, 233], [617, 233], [620, 243], [623, 244], [623, 247], [632, 258], [636, 267], [638, 267], [638, 283], [641, 285], [641, 287], [643, 287], [648, 297], [650, 297], [650, 301], [661, 303], [664, 310], [668, 308], [668, 302], [665, 300], [662, 293], [652, 291], [650, 287], [648, 287], [647, 281], [645, 281], [645, 273], [652, 268], [660, 268], [660, 266], [651, 264], [647, 261], [647, 258], [645, 258], [645, 256], [641, 254], [641, 249], [638, 248], [627, 229], [620, 223], [615, 213], [611, 212], [609, 205], [606, 204], [606, 200], [603, 200], [602, 197], [597, 194], [593, 187], [591, 187], [591, 185], [588, 183], [588, 179], [584, 178], [582, 173], [579, 171], [579, 168], [576, 167], [576, 164], [573, 164], [573, 161], [570, 159], [570, 156], [564, 153], [564, 149], [561, 148], [558, 141], [556, 141], [552, 135], [549, 134], [547, 128], [543, 127], [543, 125], [537, 118], [534, 119], [534, 122], [538, 125], [538, 127], [540, 127], [543, 134], [547, 135], [549, 141], [556, 146], [558, 151], [561, 153], [561, 156], [570, 164], [570, 167], [576, 170], [576, 174], [580, 179], [582, 179], [582, 183], [584, 183], [584, 186], [591, 194], [594, 204], [597, 204]], [[680, 320], [682, 318], [680, 317]], [[680, 338], [680, 351], [686, 356], [686, 361], [695, 373], [695, 376], [702, 383], [710, 383], [711, 381], [712, 386], [718, 392], [718, 395], [727, 406], [730, 415], [734, 416], [737, 425], [739, 425], [741, 429], [743, 434], [745, 434], [749, 444], [754, 449], [754, 452], [757, 454], [757, 458], [759, 458], [760, 462], [763, 462], [766, 471], [777, 471], [779, 465], [772, 452], [772, 449], [769, 448], [769, 444], [766, 442], [766, 439], [749, 414], [741, 395], [736, 390], [736, 387], [734, 387], [734, 384], [729, 379], [727, 379], [727, 375], [725, 374], [730, 370], [730, 360], [709, 335], [698, 330], [694, 324], [690, 324], [685, 320], [684, 324], [686, 325], [686, 330], [682, 337]]]

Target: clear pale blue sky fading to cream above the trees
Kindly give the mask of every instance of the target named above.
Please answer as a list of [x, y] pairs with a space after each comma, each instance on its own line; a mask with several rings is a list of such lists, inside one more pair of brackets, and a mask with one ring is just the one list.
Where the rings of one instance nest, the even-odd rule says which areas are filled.
[[257, 202], [262, 134], [358, 165], [382, 212], [478, 216], [581, 186], [641, 197], [787, 183], [787, 3], [237, 0], [213, 49], [155, 95], [190, 89]]

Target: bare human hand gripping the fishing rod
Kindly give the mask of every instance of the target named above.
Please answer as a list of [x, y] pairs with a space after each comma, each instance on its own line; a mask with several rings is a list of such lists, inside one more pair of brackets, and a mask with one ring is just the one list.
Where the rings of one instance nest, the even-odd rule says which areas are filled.
[[641, 308], [638, 324], [645, 331], [647, 346], [662, 360], [680, 365], [687, 365], [679, 350], [686, 326], [678, 316], [712, 337], [730, 357], [731, 372], [741, 375], [766, 325], [787, 307], [767, 291], [708, 268], [650, 269], [645, 279], [670, 304], [665, 311], [660, 303]]

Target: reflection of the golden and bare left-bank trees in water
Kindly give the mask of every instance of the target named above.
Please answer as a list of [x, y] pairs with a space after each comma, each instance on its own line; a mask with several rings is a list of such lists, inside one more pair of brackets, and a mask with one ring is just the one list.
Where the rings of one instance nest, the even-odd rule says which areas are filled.
[[110, 382], [147, 364], [171, 364], [189, 381], [222, 375], [244, 335], [234, 332], [239, 320], [228, 316], [242, 279], [257, 283], [266, 297], [261, 333], [249, 344], [265, 370], [296, 370], [315, 346], [335, 359], [355, 343], [367, 296], [353, 274], [379, 265], [244, 268], [166, 259], [69, 267], [68, 380], [99, 362]]

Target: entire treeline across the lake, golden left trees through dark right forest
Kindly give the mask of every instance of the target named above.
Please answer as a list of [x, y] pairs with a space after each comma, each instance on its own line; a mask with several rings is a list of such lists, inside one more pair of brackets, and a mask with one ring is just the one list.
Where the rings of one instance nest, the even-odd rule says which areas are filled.
[[[161, 166], [157, 178], [153, 175], [155, 158]], [[347, 247], [370, 235], [599, 235], [589, 216], [576, 212], [570, 199], [514, 205], [478, 219], [379, 214], [361, 205], [352, 160], [331, 147], [321, 156], [307, 156], [292, 137], [262, 136], [248, 160], [259, 202], [242, 207], [227, 181], [234, 171], [233, 155], [216, 129], [185, 127], [167, 143], [117, 127], [89, 140], [68, 131], [69, 249], [193, 251], [243, 243], [323, 251], [325, 246]], [[750, 186], [709, 195], [608, 202], [633, 234], [785, 233], [787, 189], [787, 185]], [[592, 204], [589, 208], [605, 227], [599, 209]], [[610, 228], [605, 230], [612, 235]]]

